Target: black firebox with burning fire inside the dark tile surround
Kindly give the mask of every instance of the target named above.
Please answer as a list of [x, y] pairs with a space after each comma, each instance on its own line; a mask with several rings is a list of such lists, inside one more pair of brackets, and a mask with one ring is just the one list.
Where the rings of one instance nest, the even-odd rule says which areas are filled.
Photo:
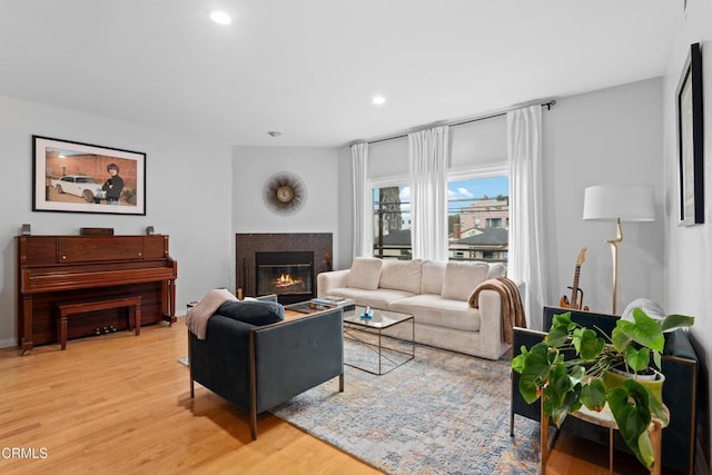
[[257, 295], [277, 294], [279, 301], [314, 297], [314, 253], [255, 253]]

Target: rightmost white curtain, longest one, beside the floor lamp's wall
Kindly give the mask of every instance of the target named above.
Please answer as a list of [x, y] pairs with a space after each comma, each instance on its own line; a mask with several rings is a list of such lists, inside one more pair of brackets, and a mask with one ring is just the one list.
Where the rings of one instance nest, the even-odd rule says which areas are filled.
[[542, 195], [542, 107], [507, 112], [510, 253], [507, 276], [525, 285], [527, 326], [542, 329], [546, 290]]

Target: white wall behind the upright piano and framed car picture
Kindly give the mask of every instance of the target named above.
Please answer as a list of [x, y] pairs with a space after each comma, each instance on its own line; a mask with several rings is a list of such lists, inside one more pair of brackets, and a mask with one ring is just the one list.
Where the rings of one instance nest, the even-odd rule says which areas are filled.
[[[23, 222], [33, 235], [78, 235], [81, 227], [142, 235], [152, 225], [170, 236], [170, 254], [178, 261], [178, 314], [206, 288], [229, 284], [228, 146], [4, 97], [0, 110], [0, 347], [17, 342], [13, 237]], [[146, 216], [32, 212], [32, 135], [146, 152]]]

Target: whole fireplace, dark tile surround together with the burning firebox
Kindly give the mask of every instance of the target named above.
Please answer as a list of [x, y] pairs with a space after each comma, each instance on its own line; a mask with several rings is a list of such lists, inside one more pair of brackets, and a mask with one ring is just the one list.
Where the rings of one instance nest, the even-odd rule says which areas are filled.
[[281, 304], [316, 297], [316, 276], [333, 269], [332, 234], [236, 234], [236, 289], [277, 294]]

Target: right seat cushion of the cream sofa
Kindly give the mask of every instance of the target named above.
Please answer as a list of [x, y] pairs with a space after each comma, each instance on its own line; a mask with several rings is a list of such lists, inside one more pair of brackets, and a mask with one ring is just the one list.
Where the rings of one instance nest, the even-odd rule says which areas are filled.
[[467, 331], [479, 330], [479, 310], [469, 308], [466, 301], [422, 294], [396, 300], [389, 310], [415, 315], [416, 324], [436, 325]]

